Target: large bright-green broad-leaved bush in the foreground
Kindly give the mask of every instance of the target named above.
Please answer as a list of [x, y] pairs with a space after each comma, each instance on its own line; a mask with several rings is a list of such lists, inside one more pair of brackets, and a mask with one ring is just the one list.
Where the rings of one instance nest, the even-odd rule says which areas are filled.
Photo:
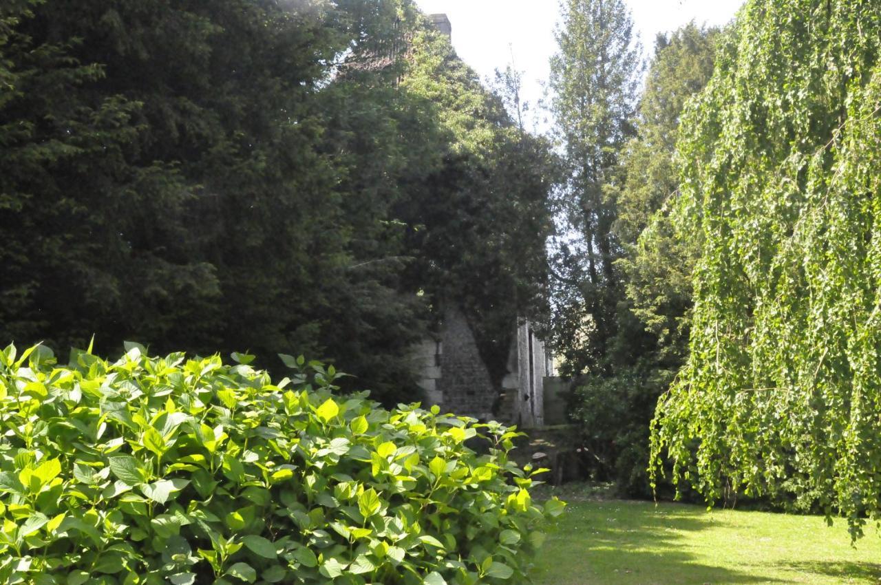
[[498, 423], [331, 396], [302, 359], [272, 384], [128, 349], [0, 352], [0, 582], [522, 582], [564, 506]]

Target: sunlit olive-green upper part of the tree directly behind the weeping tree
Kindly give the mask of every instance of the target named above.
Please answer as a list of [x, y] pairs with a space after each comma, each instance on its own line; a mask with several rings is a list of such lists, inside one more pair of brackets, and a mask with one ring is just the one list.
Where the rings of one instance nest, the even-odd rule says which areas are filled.
[[626, 249], [618, 267], [633, 315], [652, 334], [657, 367], [676, 371], [685, 360], [691, 310], [691, 270], [697, 241], [679, 234], [676, 143], [685, 103], [713, 74], [719, 30], [693, 22], [659, 34], [640, 97], [637, 136], [622, 159], [626, 174], [618, 196], [615, 233]]

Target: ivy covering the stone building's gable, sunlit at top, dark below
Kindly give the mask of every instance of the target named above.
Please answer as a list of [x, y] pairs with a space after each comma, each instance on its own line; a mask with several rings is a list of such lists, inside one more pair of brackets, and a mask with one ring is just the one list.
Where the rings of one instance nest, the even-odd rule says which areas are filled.
[[448, 304], [463, 309], [500, 387], [516, 318], [544, 321], [548, 313], [545, 241], [556, 160], [442, 35], [413, 40], [401, 91], [423, 105], [426, 125], [447, 140], [435, 149], [439, 164], [397, 210], [411, 226], [408, 247], [419, 251], [411, 278], [436, 316]]

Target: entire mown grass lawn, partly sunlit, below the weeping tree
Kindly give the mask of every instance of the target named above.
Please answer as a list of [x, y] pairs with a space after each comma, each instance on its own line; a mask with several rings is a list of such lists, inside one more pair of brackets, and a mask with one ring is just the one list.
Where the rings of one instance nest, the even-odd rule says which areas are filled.
[[570, 501], [537, 585], [881, 583], [875, 529], [850, 544], [823, 518], [652, 502]]

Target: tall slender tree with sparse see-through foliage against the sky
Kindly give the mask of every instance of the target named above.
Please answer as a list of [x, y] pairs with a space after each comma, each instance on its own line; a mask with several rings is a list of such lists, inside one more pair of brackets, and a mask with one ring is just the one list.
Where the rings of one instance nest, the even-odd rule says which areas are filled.
[[606, 367], [618, 330], [622, 294], [614, 262], [621, 248], [612, 226], [641, 64], [622, 0], [566, 0], [561, 8], [550, 86], [567, 180], [554, 242], [552, 334], [565, 372], [581, 374]]

